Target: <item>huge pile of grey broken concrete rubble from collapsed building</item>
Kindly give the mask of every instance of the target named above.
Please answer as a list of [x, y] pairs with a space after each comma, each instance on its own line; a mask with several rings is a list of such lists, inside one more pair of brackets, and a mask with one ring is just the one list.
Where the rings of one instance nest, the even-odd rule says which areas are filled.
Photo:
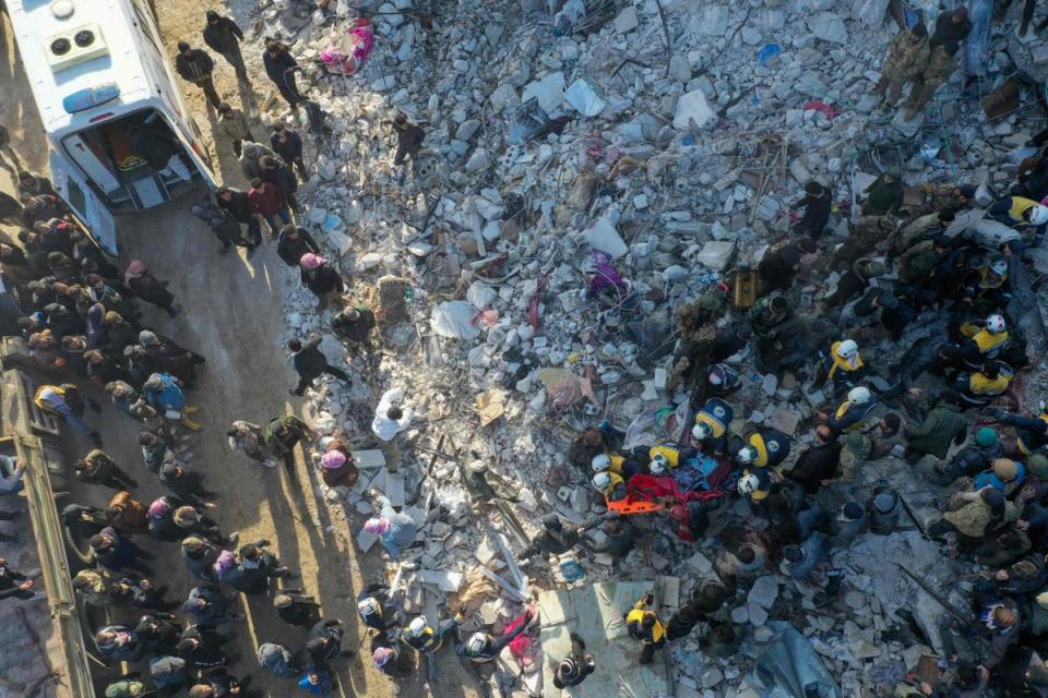
[[[572, 16], [572, 3], [552, 15], [527, 0], [335, 4], [322, 26], [279, 5], [263, 15], [264, 33], [309, 65], [310, 98], [333, 130], [307, 156], [315, 173], [301, 192], [306, 225], [354, 297], [382, 311], [381, 351], [323, 346], [361, 380], [307, 393], [312, 425], [344, 432], [362, 454], [354, 489], [320, 494], [335, 512], [345, 503], [354, 530], [371, 512], [368, 488], [405, 507], [424, 526], [426, 544], [413, 551], [420, 579], [431, 574], [442, 591], [478, 564], [497, 574], [515, 564], [489, 525], [522, 526], [531, 538], [546, 513], [577, 525], [603, 512], [588, 473], [567, 465], [582, 428], [608, 420], [627, 431], [647, 418], [643, 433], [628, 432], [629, 446], [672, 440], [690, 423], [688, 395], [674, 380], [675, 312], [716, 289], [728, 268], [755, 265], [788, 230], [789, 205], [808, 181], [831, 190], [827, 234], [841, 241], [857, 197], [884, 169], [901, 168], [917, 200], [942, 182], [1000, 189], [1041, 128], [1025, 107], [988, 119], [977, 100], [961, 98], [961, 74], [912, 121], [878, 111], [870, 88], [897, 31], [883, 16], [886, 2], [645, 0], [606, 17]], [[313, 59], [340, 44], [356, 11], [373, 21], [376, 47], [357, 73], [325, 74]], [[583, 23], [587, 33], [573, 31]], [[992, 84], [1013, 60], [1003, 31], [995, 25], [985, 67], [982, 81]], [[1022, 46], [1031, 60], [1045, 58], [1040, 40]], [[1027, 87], [1020, 95], [1032, 104]], [[392, 165], [396, 111], [427, 133], [403, 181]], [[802, 266], [793, 302], [818, 304], [839, 270]], [[285, 281], [283, 339], [323, 329], [331, 311], [318, 312], [293, 275]], [[397, 293], [404, 302], [388, 308]], [[870, 353], [886, 366], [932, 329]], [[811, 441], [801, 423], [829, 398], [807, 390], [803, 375], [763, 375], [745, 352], [728, 362], [743, 376], [733, 398], [739, 423], [774, 425], [800, 453]], [[417, 413], [395, 474], [381, 468], [369, 428], [390, 387], [404, 388]], [[471, 505], [458, 470], [475, 460], [499, 477], [517, 524]], [[912, 477], [902, 460], [888, 462], [879, 477]], [[587, 581], [676, 577], [682, 598], [715, 574], [717, 519], [760, 522], [741, 501], [712, 518], [698, 544], [648, 530], [648, 544], [626, 561], [576, 562]], [[366, 549], [373, 538], [358, 543]], [[943, 578], [970, 571], [943, 563], [916, 531], [866, 537], [837, 556], [835, 566], [855, 573], [843, 606], [817, 606], [786, 576], [758, 578], [730, 612], [753, 628], [739, 654], [718, 660], [695, 640], [674, 645], [677, 695], [755, 696], [743, 676], [773, 637], [770, 618], [795, 621], [843, 695], [867, 695], [919, 659], [913, 645], [884, 634], [897, 623], [891, 614], [916, 598], [885, 561]], [[533, 583], [581, 583], [552, 567], [559, 577], [536, 575]], [[410, 599], [415, 611], [424, 605]], [[926, 625], [934, 626], [931, 616]]]

